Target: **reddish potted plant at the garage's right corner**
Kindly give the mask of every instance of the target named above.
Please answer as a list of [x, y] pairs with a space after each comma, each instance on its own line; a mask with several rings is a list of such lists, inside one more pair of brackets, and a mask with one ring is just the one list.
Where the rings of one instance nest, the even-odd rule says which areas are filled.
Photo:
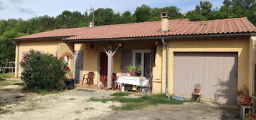
[[243, 86], [242, 89], [237, 91], [237, 96], [239, 96], [239, 104], [250, 105], [252, 97], [249, 96], [249, 90], [247, 86]]

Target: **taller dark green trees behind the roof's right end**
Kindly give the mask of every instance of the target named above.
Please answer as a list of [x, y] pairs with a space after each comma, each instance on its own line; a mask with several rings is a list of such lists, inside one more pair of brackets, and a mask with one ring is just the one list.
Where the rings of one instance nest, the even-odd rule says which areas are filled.
[[220, 8], [212, 8], [209, 1], [201, 1], [194, 11], [186, 13], [191, 21], [232, 19], [247, 17], [256, 25], [256, 1], [255, 0], [224, 0]]

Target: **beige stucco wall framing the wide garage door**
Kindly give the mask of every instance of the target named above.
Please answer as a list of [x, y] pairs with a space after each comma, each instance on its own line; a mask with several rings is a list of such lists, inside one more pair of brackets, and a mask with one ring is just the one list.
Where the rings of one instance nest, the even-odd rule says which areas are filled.
[[[248, 61], [249, 38], [217, 38], [217, 39], [172, 39], [166, 40], [169, 44], [169, 94], [174, 94], [174, 52], [176, 51], [209, 51], [209, 52], [237, 52], [238, 53], [238, 89], [243, 85], [249, 86]], [[165, 53], [163, 51], [163, 53]], [[163, 55], [163, 64], [165, 63]], [[163, 65], [164, 66], [164, 65]], [[165, 69], [162, 68], [164, 74]], [[165, 76], [165, 75], [164, 75]], [[162, 79], [162, 91], [164, 91], [165, 79]], [[252, 87], [248, 87], [250, 92]]]

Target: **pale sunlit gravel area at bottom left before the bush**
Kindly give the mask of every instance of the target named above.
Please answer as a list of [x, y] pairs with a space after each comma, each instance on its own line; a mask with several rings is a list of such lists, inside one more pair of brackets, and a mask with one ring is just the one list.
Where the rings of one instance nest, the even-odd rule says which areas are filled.
[[[0, 91], [1, 120], [78, 120], [100, 116], [113, 112], [110, 106], [120, 103], [88, 102], [91, 97], [103, 98], [110, 96], [108, 91], [71, 90], [60, 94], [38, 95], [24, 94], [19, 91]], [[22, 98], [15, 99], [16, 96]], [[2, 104], [2, 106], [1, 106]], [[1, 111], [6, 111], [2, 113]]]

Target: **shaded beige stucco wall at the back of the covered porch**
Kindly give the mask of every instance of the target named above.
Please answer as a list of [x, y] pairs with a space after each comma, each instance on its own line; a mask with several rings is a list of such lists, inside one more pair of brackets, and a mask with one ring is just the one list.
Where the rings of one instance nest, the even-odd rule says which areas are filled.
[[[118, 42], [113, 43], [114, 46], [118, 45]], [[123, 47], [116, 51], [113, 56], [113, 72], [120, 76], [120, 65], [121, 65], [121, 50], [122, 49], [148, 49], [154, 45], [154, 41], [124, 41], [122, 42]], [[98, 84], [100, 81], [100, 52], [105, 52], [103, 46], [100, 43], [93, 43], [94, 48], [90, 48], [90, 43], [85, 44], [75, 44], [75, 51], [84, 51], [83, 54], [83, 73], [87, 74], [90, 71], [95, 73], [95, 79], [93, 80], [94, 84]], [[103, 44], [107, 46], [107, 42]]]

